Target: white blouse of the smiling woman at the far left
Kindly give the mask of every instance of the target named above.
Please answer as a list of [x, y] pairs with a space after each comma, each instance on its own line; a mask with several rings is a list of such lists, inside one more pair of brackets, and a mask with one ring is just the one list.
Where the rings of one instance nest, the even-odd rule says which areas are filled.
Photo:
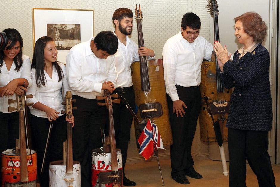
[[[22, 55], [22, 66], [19, 69], [19, 71], [15, 71], [15, 63], [12, 64], [12, 67], [10, 71], [8, 71], [5, 62], [3, 61], [3, 66], [1, 67], [1, 73], [0, 73], [0, 87], [6, 86], [10, 81], [12, 81], [15, 78], [25, 78], [28, 81], [28, 88], [32, 85], [31, 81], [31, 62], [30, 58], [26, 55]], [[8, 99], [16, 99], [15, 94], [10, 96], [2, 96], [0, 97], [0, 112], [3, 113], [10, 113], [8, 111], [9, 106], [17, 107], [16, 103], [8, 104]], [[15, 112], [15, 111], [13, 111]]]

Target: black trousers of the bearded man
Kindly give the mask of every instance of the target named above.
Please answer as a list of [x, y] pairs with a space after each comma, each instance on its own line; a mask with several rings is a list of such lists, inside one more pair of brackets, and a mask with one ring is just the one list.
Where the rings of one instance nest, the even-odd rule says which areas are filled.
[[[121, 92], [114, 91], [113, 93], [120, 94]], [[126, 99], [132, 110], [135, 110], [135, 94], [134, 89], [128, 92], [121, 93]], [[121, 101], [120, 104], [113, 103], [114, 127], [116, 136], [116, 147], [122, 151], [122, 171], [125, 171], [125, 163], [127, 158], [128, 142], [130, 140], [130, 128], [133, 116]], [[106, 132], [109, 132], [109, 123], [106, 123]], [[107, 133], [106, 133], [107, 134]]]

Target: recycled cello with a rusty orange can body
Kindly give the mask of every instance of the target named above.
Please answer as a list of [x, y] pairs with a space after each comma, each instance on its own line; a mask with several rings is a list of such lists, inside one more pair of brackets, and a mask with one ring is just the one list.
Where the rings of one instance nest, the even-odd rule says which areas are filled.
[[[32, 95], [26, 95], [33, 98]], [[27, 186], [36, 187], [37, 154], [34, 150], [26, 149], [25, 126], [25, 100], [21, 95], [16, 95], [16, 100], [8, 99], [8, 104], [17, 103], [17, 108], [9, 106], [8, 111], [17, 110], [19, 113], [19, 156], [18, 150], [5, 150], [2, 153], [2, 187]], [[32, 106], [33, 103], [27, 103]], [[28, 129], [26, 129], [28, 130]], [[32, 156], [31, 156], [32, 155]], [[3, 170], [5, 168], [5, 170]], [[19, 168], [19, 169], [18, 169]]]

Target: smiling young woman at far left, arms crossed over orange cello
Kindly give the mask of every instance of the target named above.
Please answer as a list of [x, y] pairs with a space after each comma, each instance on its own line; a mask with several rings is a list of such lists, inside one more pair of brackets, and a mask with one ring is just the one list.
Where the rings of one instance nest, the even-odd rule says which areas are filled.
[[[30, 78], [30, 58], [22, 54], [23, 41], [16, 29], [3, 30], [8, 38], [5, 50], [0, 51], [0, 151], [15, 148], [18, 139], [19, 116], [17, 111], [9, 112], [8, 99], [16, 99], [15, 94], [23, 95], [32, 85]], [[25, 82], [25, 87], [23, 86]], [[0, 174], [1, 180], [1, 174]], [[1, 181], [0, 181], [1, 182]]]

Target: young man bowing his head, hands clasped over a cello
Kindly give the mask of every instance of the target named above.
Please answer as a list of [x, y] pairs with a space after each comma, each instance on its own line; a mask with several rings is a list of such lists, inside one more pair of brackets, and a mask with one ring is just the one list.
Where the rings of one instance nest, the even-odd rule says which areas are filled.
[[81, 186], [91, 186], [91, 150], [102, 147], [100, 126], [105, 128], [105, 107], [97, 106], [96, 96], [115, 89], [115, 52], [118, 39], [102, 31], [89, 41], [71, 48], [66, 58], [66, 74], [73, 99], [73, 159], [81, 163]]

